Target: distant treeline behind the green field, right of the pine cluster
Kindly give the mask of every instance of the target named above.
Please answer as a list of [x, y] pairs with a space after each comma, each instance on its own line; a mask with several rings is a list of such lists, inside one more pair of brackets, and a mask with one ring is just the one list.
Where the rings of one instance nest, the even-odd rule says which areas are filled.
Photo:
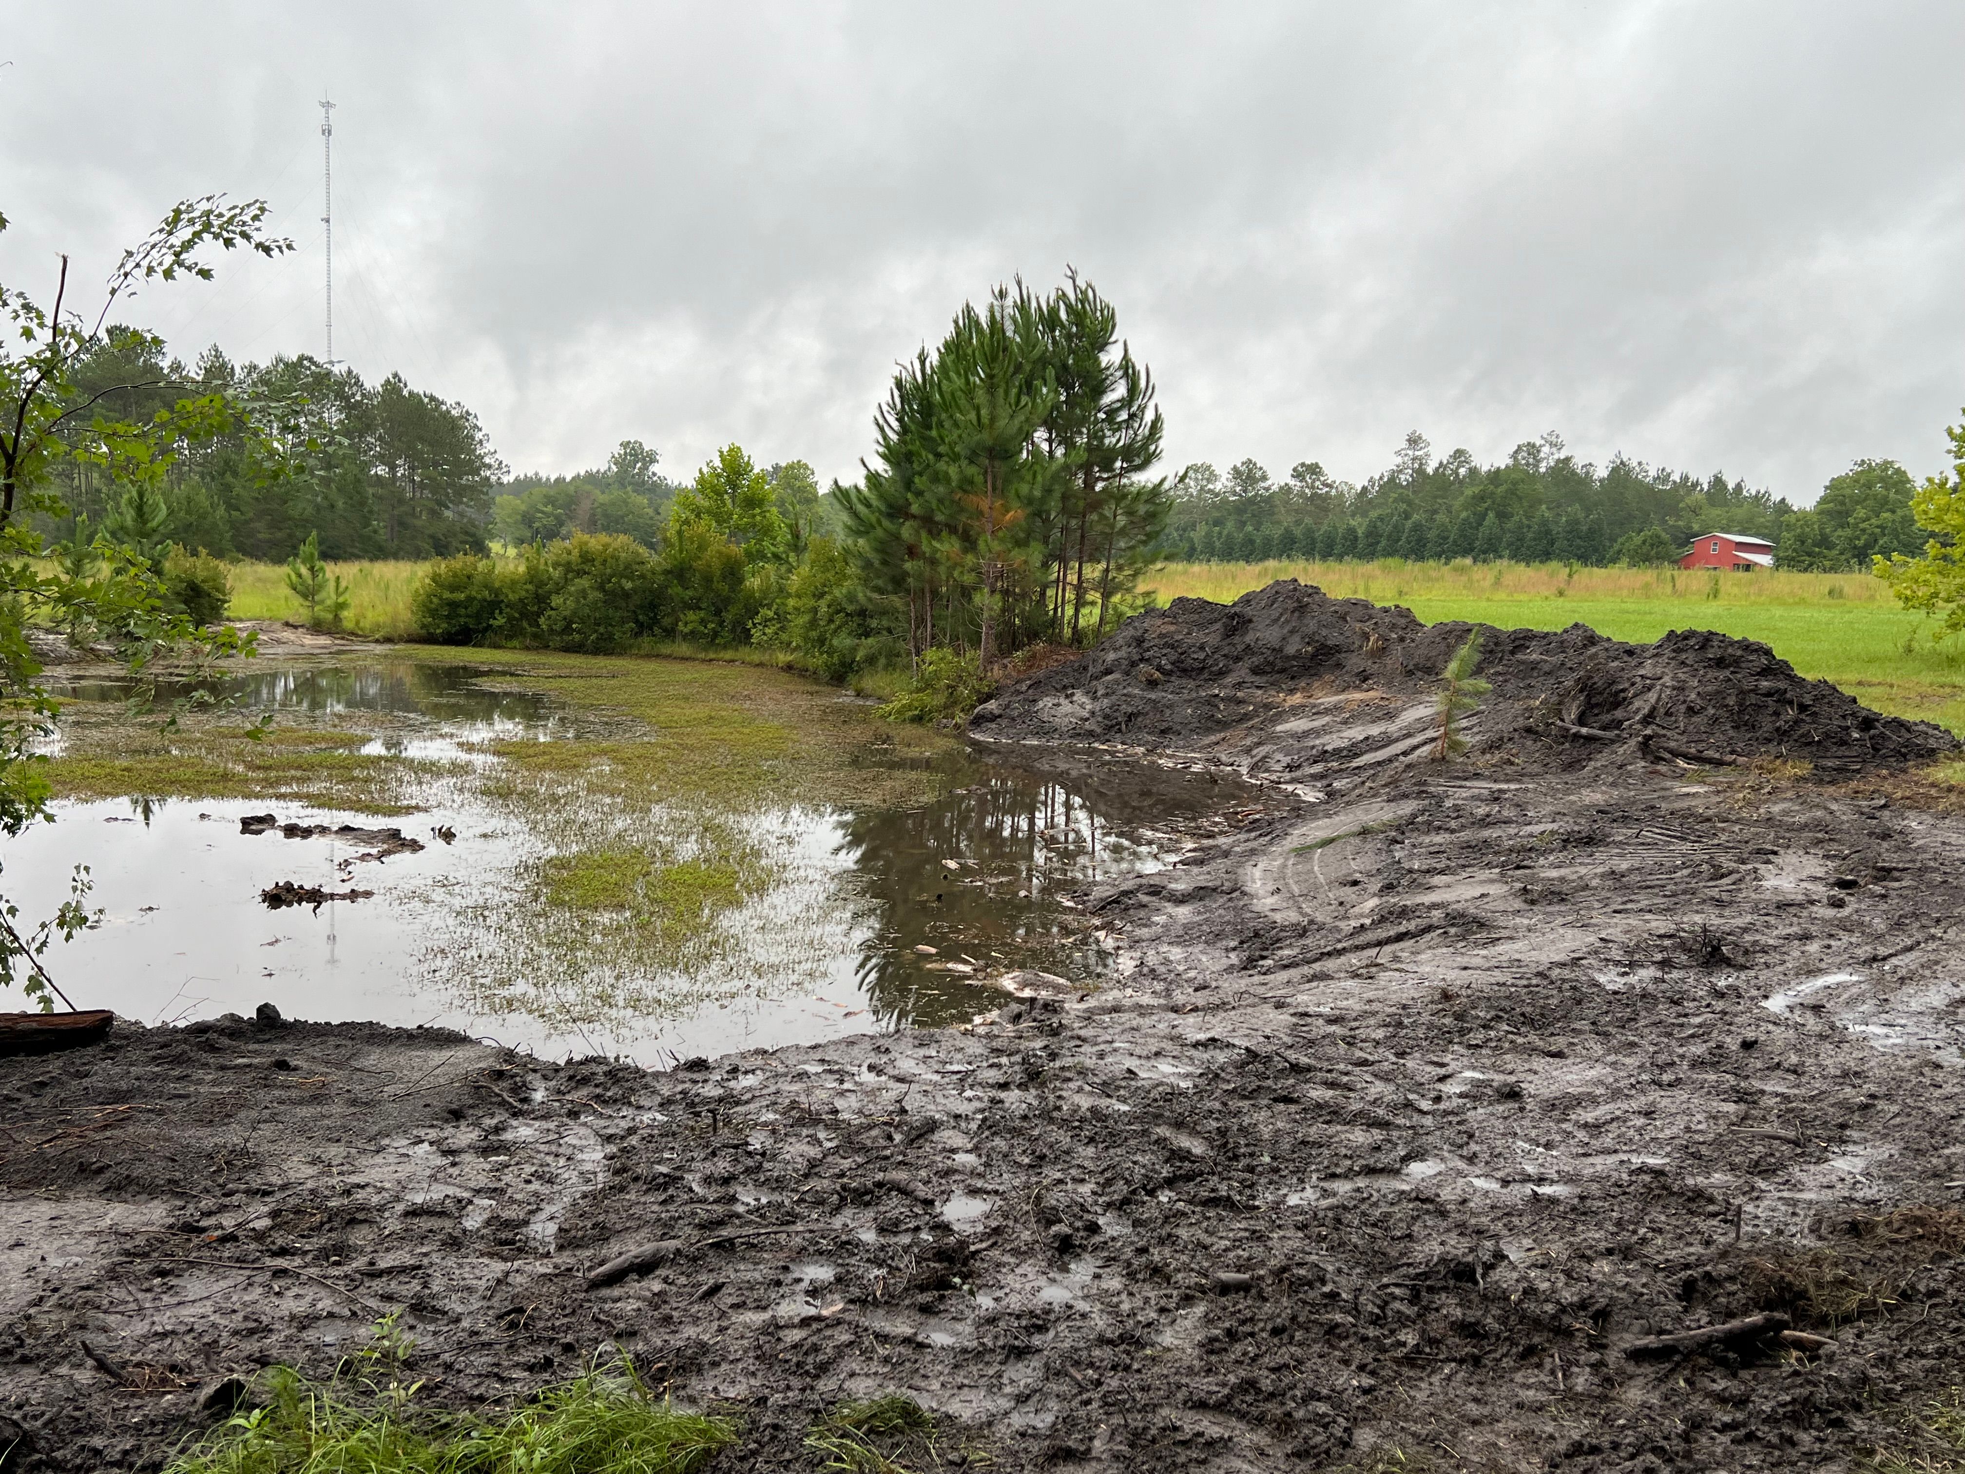
[[1625, 456], [1603, 468], [1578, 462], [1554, 432], [1482, 466], [1466, 450], [1434, 460], [1415, 430], [1364, 485], [1317, 462], [1299, 462], [1283, 482], [1254, 460], [1226, 476], [1189, 466], [1175, 480], [1167, 556], [1660, 564], [1700, 533], [1743, 533], [1774, 542], [1782, 568], [1869, 568], [1871, 554], [1924, 548], [1912, 489], [1896, 462], [1861, 460], [1798, 511], [1719, 474], [1700, 480]]

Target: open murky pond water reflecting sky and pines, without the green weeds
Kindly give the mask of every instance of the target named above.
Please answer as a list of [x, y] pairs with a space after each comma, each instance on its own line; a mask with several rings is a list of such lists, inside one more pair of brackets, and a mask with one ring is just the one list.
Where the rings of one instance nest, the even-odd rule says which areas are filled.
[[[564, 973], [542, 951], [550, 937], [533, 924], [529, 888], [564, 845], [566, 816], [489, 804], [444, 780], [442, 765], [483, 772], [497, 759], [474, 743], [552, 741], [578, 721], [538, 694], [485, 690], [481, 674], [403, 662], [224, 682], [216, 694], [248, 706], [405, 717], [365, 751], [438, 759], [428, 812], [391, 822], [273, 800], [65, 804], [59, 823], [0, 845], [28, 916], [59, 902], [71, 865], [92, 867], [106, 916], [51, 953], [57, 981], [79, 1004], [145, 1022], [267, 1000], [297, 1018], [440, 1024], [645, 1063], [949, 1024], [1000, 1002], [986, 981], [1018, 967], [1096, 985], [1108, 961], [1098, 926], [1061, 896], [1167, 865], [1248, 802], [1240, 784], [1205, 774], [957, 755], [939, 763], [949, 792], [927, 804], [737, 816], [741, 841], [770, 853], [772, 882], [721, 918], [700, 963]], [[92, 682], [67, 694], [128, 692]], [[892, 759], [869, 745], [863, 761]], [[305, 825], [399, 823], [424, 849], [362, 861], [362, 843], [240, 831], [242, 816], [269, 810]], [[259, 892], [281, 880], [373, 896], [269, 912]]]

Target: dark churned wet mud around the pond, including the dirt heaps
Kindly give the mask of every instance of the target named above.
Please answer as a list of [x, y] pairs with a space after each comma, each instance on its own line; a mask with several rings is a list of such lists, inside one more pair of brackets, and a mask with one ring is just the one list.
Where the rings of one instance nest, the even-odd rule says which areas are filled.
[[[0, 1059], [20, 1466], [157, 1466], [202, 1389], [326, 1372], [393, 1307], [436, 1401], [623, 1346], [743, 1415], [727, 1470], [812, 1468], [806, 1425], [876, 1391], [1000, 1470], [1902, 1443], [1965, 1342], [1965, 820], [1906, 772], [1949, 739], [1759, 647], [1662, 668], [1572, 631], [1537, 680], [1497, 643], [1472, 749], [1431, 763], [1438, 651], [1254, 615], [1311, 639], [1250, 670], [1218, 629], [1210, 668], [1177, 607], [979, 713], [1114, 745], [1124, 708], [1155, 761], [1271, 782], [1081, 898], [1124, 963], [1095, 992], [670, 1073], [252, 1020]], [[1643, 1354], [1753, 1315], [1784, 1321]]]

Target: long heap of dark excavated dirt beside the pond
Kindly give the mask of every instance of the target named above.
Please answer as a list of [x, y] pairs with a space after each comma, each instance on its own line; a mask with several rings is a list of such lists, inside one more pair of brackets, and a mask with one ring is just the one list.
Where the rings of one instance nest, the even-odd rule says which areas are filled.
[[1470, 725], [1474, 745], [1544, 766], [1643, 745], [1855, 772], [1959, 747], [1941, 727], [1802, 680], [1757, 641], [1686, 629], [1627, 645], [1586, 625], [1423, 625], [1409, 609], [1332, 599], [1295, 580], [1228, 605], [1175, 599], [1138, 615], [1085, 658], [1012, 684], [977, 709], [971, 733], [1236, 755], [1252, 770], [1362, 770], [1425, 747], [1431, 694], [1472, 629], [1484, 631], [1480, 674], [1493, 684]]

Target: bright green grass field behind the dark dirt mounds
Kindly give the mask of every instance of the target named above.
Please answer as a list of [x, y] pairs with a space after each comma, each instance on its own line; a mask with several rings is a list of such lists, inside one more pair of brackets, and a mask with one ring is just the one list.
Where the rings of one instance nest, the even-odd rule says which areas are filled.
[[1167, 564], [1148, 588], [1228, 601], [1277, 578], [1326, 594], [1403, 603], [1427, 623], [1478, 619], [1503, 629], [1586, 623], [1621, 641], [1672, 629], [1757, 639], [1804, 676], [1833, 680], [1865, 706], [1939, 721], [1965, 735], [1965, 649], [1934, 645], [1930, 623], [1869, 574], [1717, 574], [1562, 564], [1258, 562]]

